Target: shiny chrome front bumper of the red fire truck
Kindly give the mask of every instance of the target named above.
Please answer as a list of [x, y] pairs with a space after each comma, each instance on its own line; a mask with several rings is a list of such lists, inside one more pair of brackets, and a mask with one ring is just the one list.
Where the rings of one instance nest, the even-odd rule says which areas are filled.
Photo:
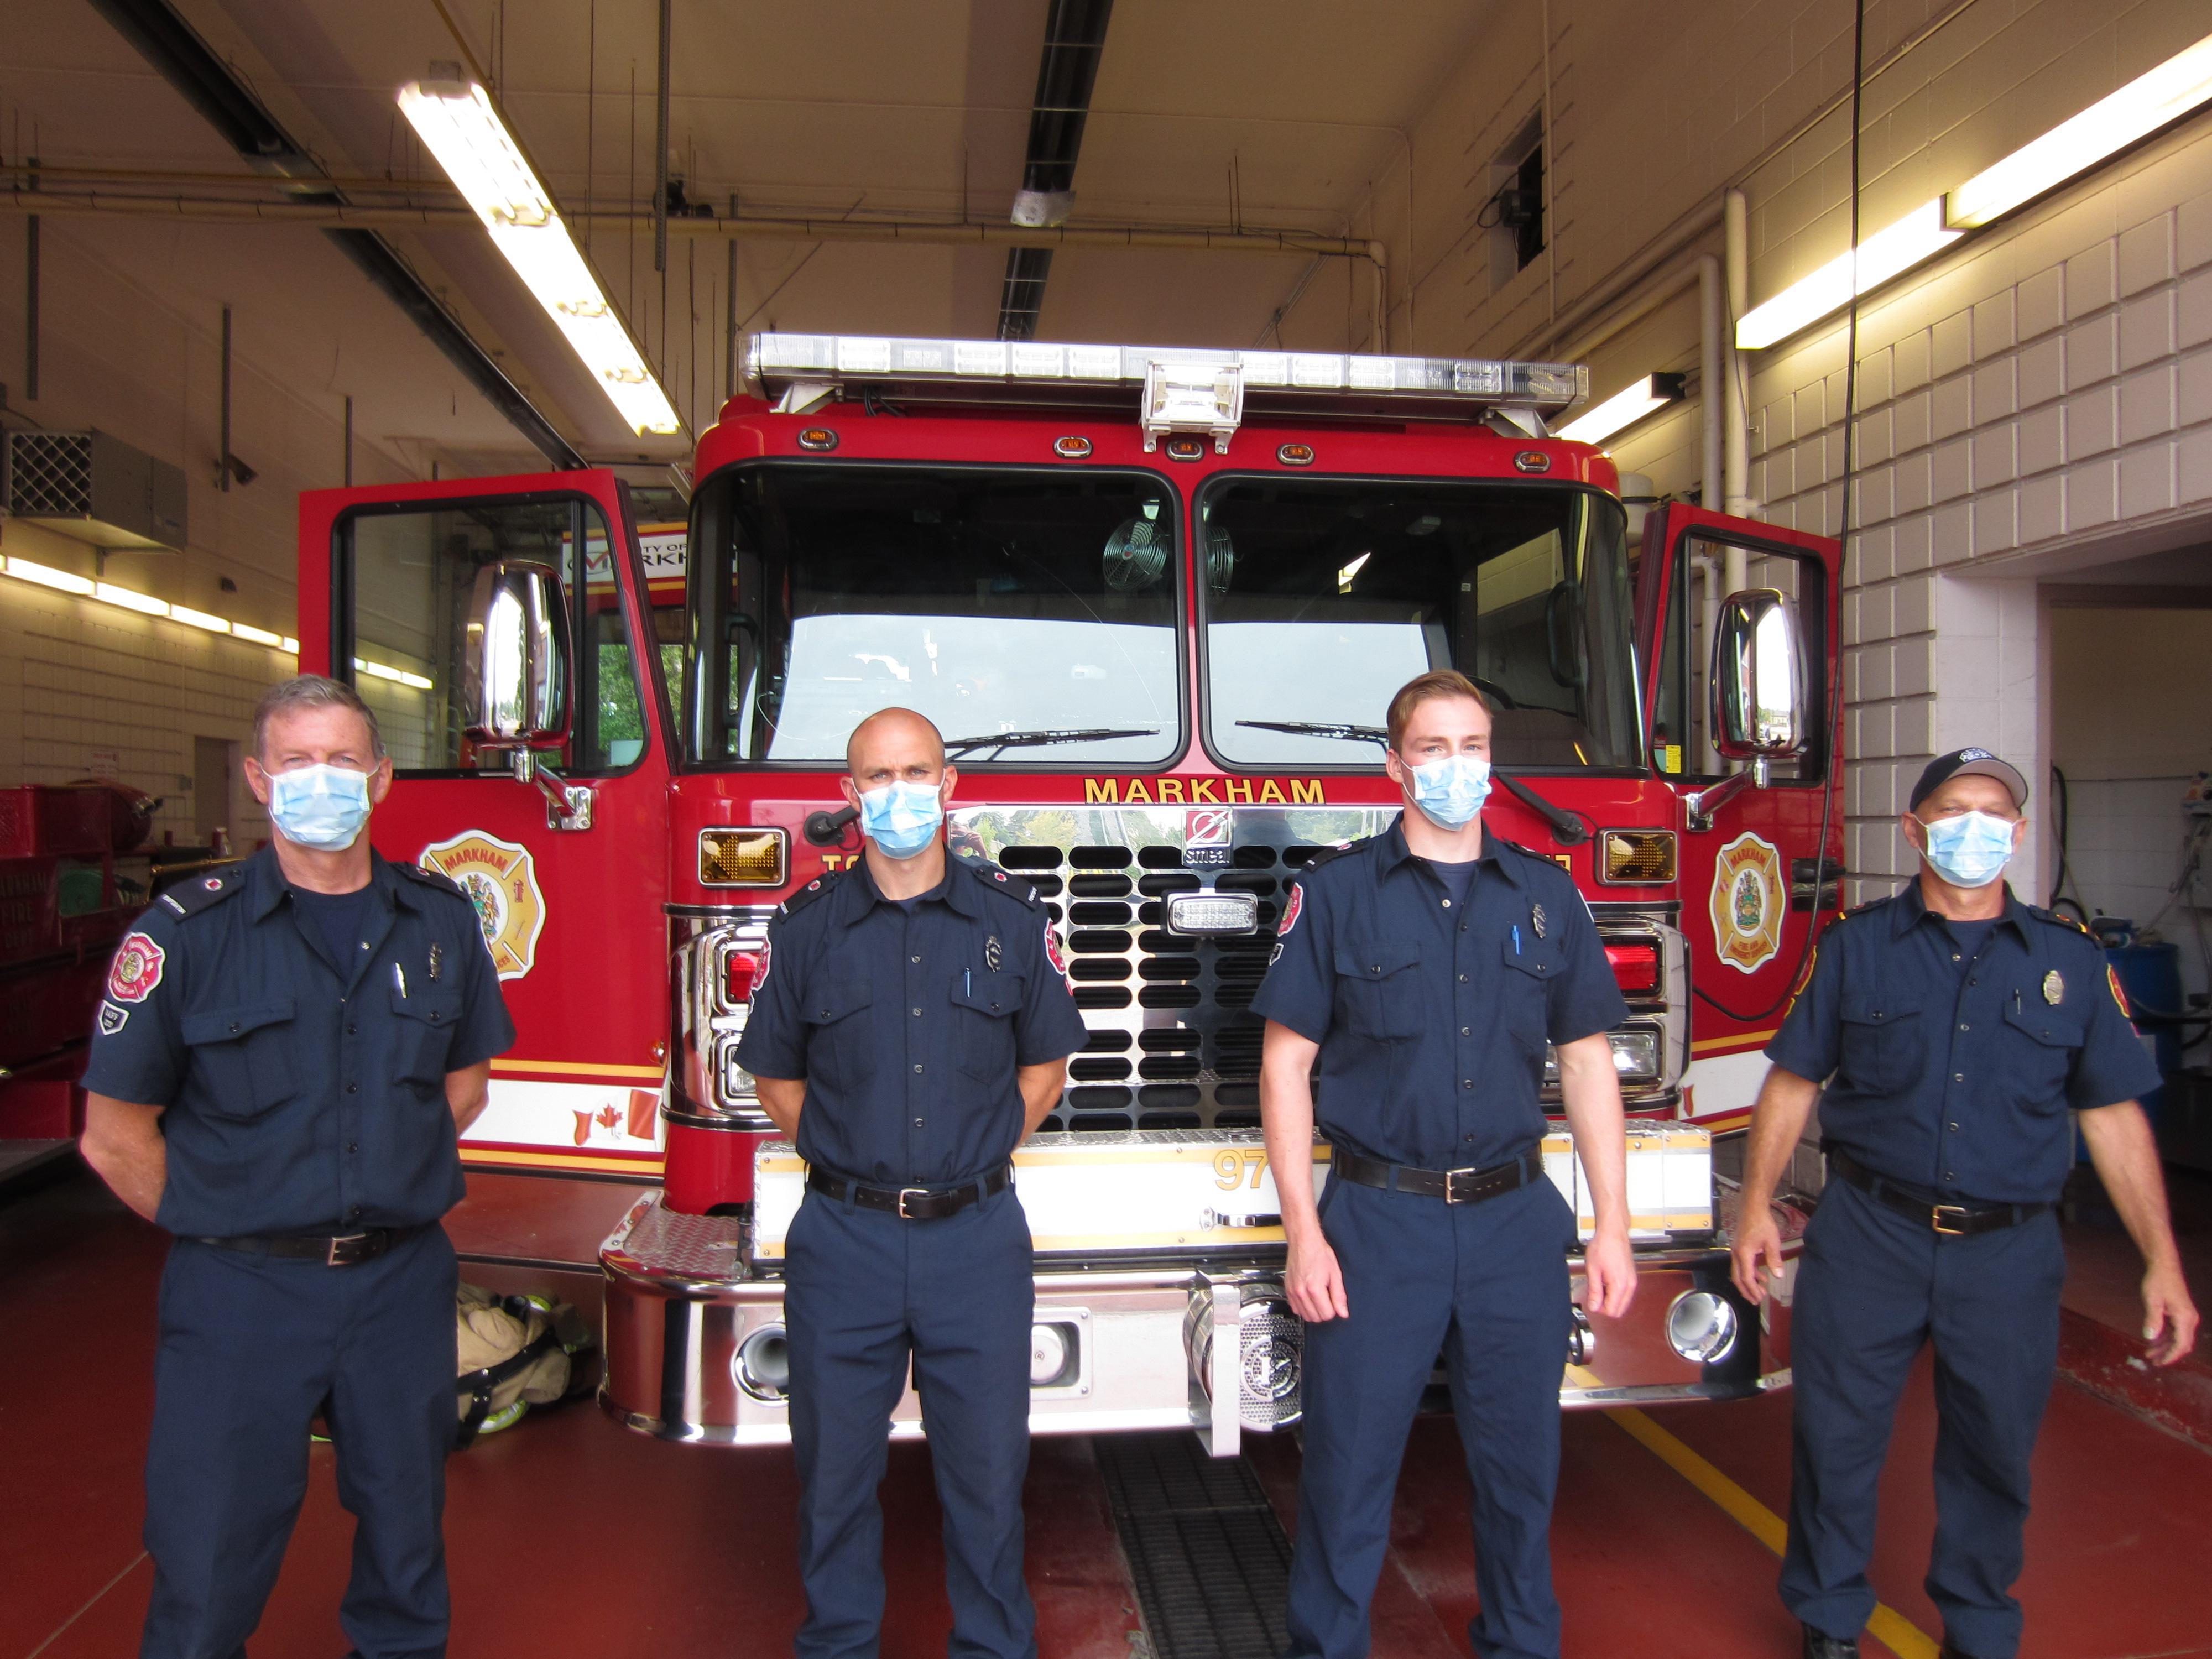
[[[677, 1214], [650, 1194], [599, 1248], [599, 1405], [624, 1427], [723, 1447], [790, 1438], [783, 1283], [748, 1272], [741, 1230], [737, 1217]], [[1787, 1301], [1743, 1303], [1725, 1250], [1637, 1250], [1637, 1301], [1617, 1321], [1582, 1314], [1582, 1261], [1568, 1265], [1577, 1352], [1559, 1378], [1562, 1407], [1739, 1400], [1787, 1387]], [[1670, 1321], [1703, 1338], [1712, 1358], [1683, 1358]], [[1732, 1325], [1730, 1340], [1719, 1340], [1719, 1325]], [[1234, 1455], [1241, 1433], [1296, 1422], [1301, 1327], [1283, 1303], [1281, 1250], [1040, 1272], [1035, 1332], [1031, 1433], [1194, 1429], [1214, 1455]], [[909, 1387], [891, 1438], [920, 1433]]]

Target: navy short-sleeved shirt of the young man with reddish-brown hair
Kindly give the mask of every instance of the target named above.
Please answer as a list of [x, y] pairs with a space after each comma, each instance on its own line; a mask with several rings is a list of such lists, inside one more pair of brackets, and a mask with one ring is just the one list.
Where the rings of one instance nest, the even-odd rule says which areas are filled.
[[1422, 1170], [1491, 1168], [1544, 1139], [1544, 1044], [1628, 1018], [1559, 865], [1484, 832], [1467, 898], [1405, 827], [1307, 865], [1252, 1011], [1321, 1044], [1314, 1121]]

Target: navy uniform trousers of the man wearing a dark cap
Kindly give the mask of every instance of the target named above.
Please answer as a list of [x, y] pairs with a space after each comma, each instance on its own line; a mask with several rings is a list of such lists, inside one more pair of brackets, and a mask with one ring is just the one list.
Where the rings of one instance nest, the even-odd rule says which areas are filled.
[[1936, 1345], [1936, 1548], [1927, 1593], [1975, 1659], [2020, 1648], [2028, 1460], [2051, 1398], [2066, 1254], [2057, 1217], [1947, 1239], [1829, 1181], [1790, 1321], [1792, 1464], [1783, 1604], [1854, 1637], [1874, 1613], [1876, 1484], [1898, 1396]]

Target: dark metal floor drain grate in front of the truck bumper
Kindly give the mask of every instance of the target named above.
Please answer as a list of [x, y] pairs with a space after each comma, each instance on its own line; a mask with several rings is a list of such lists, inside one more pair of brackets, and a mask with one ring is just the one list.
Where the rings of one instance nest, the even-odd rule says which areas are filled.
[[1243, 1458], [1199, 1438], [1093, 1438], [1157, 1659], [1274, 1659], [1287, 1639], [1290, 1540]]

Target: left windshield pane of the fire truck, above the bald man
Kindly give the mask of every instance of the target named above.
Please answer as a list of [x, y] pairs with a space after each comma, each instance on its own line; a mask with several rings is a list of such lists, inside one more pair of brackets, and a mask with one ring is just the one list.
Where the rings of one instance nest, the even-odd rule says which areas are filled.
[[863, 717], [905, 706], [947, 739], [1026, 734], [1004, 748], [1024, 768], [1166, 761], [1177, 513], [1146, 473], [768, 462], [708, 480], [692, 759], [843, 763]]

